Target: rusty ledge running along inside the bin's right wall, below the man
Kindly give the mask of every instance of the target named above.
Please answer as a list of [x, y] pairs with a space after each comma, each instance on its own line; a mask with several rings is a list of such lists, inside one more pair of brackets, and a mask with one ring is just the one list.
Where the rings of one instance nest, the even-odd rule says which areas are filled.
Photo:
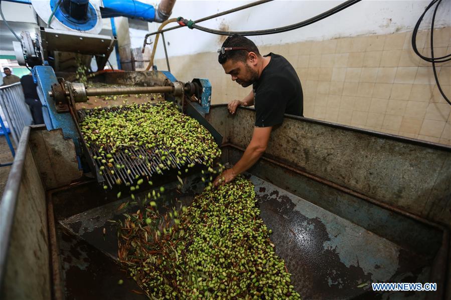
[[[221, 148], [224, 148], [224, 147], [235, 148], [235, 149], [237, 149], [237, 150], [239, 150], [241, 152], [245, 151], [245, 149], [243, 149], [243, 148], [241, 148], [239, 146], [236, 146], [234, 144], [231, 144], [231, 143], [222, 144]], [[362, 200], [368, 201], [368, 202], [370, 202], [370, 203], [372, 203], [374, 205], [377, 205], [377, 206], [382, 207], [384, 209], [387, 209], [389, 211], [393, 211], [395, 213], [399, 213], [399, 214], [401, 214], [403, 216], [412, 218], [412, 219], [417, 220], [417, 221], [419, 221], [419, 222], [421, 222], [423, 224], [426, 224], [428, 226], [431, 226], [431, 227], [434, 227], [436, 229], [441, 230], [443, 232], [443, 234], [442, 234], [442, 246], [440, 247], [437, 255], [435, 256], [435, 259], [434, 259], [434, 262], [433, 262], [433, 265], [432, 265], [432, 272], [431, 272], [432, 275], [431, 276], [432, 276], [432, 279], [435, 280], [435, 281], [431, 281], [431, 282], [443, 282], [443, 284], [439, 284], [439, 286], [437, 286], [437, 290], [436, 290], [436, 293], [438, 293], [437, 299], [438, 298], [445, 299], [446, 298], [445, 294], [447, 294], [449, 296], [449, 294], [451, 293], [451, 289], [448, 290], [447, 284], [446, 284], [447, 283], [447, 280], [446, 280], [447, 273], [450, 271], [449, 270], [449, 266], [447, 265], [447, 260], [448, 260], [447, 257], [449, 255], [449, 228], [446, 225], [441, 224], [441, 223], [432, 222], [432, 221], [427, 220], [427, 219], [425, 219], [425, 218], [423, 218], [421, 216], [418, 216], [416, 214], [412, 214], [410, 212], [404, 211], [404, 210], [402, 210], [402, 209], [400, 209], [398, 207], [391, 206], [391, 205], [388, 205], [386, 203], [382, 203], [382, 202], [380, 202], [380, 201], [378, 201], [376, 199], [373, 199], [371, 197], [365, 196], [365, 195], [363, 195], [363, 194], [361, 194], [359, 192], [356, 192], [356, 191], [354, 191], [352, 189], [349, 189], [349, 188], [344, 187], [342, 185], [336, 184], [336, 183], [334, 183], [332, 181], [329, 181], [327, 179], [320, 178], [318, 176], [315, 176], [313, 174], [307, 173], [305, 171], [298, 170], [296, 168], [293, 168], [293, 167], [288, 166], [288, 165], [286, 165], [284, 163], [281, 163], [281, 162], [278, 162], [276, 160], [273, 160], [273, 159], [271, 159], [269, 157], [266, 157], [264, 155], [261, 157], [261, 159], [263, 159], [263, 160], [265, 160], [265, 161], [267, 161], [267, 162], [269, 162], [271, 164], [275, 164], [275, 165], [277, 165], [279, 167], [287, 169], [287, 170], [289, 170], [291, 172], [294, 172], [296, 174], [305, 176], [307, 178], [310, 178], [310, 179], [315, 180], [317, 182], [320, 182], [322, 184], [326, 184], [326, 185], [328, 185], [328, 186], [330, 186], [332, 188], [338, 189], [338, 190], [340, 190], [340, 191], [342, 191], [344, 193], [350, 194], [350, 195], [352, 195], [354, 197], [357, 197], [357, 198], [360, 198]], [[444, 267], [440, 268], [440, 266], [443, 266], [443, 265], [444, 265]], [[437, 295], [437, 294], [435, 294], [435, 295]]]

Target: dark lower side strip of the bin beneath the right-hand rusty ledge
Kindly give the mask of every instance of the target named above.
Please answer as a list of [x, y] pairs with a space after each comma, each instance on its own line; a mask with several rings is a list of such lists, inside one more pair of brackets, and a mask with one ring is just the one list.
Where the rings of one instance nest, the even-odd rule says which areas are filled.
[[[234, 147], [225, 147], [223, 152], [227, 154], [227, 160], [232, 164], [236, 163], [243, 153]], [[433, 257], [440, 247], [446, 248], [442, 245], [443, 229], [375, 205], [373, 202], [281, 168], [265, 159], [261, 159], [249, 171], [287, 192], [404, 248], [412, 249], [428, 257]]]

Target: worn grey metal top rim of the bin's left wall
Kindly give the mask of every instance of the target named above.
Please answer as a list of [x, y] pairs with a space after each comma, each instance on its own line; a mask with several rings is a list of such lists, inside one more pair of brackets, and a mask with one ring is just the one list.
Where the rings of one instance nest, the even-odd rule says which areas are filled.
[[25, 158], [30, 137], [30, 127], [24, 127], [19, 140], [16, 156], [11, 166], [8, 181], [0, 202], [0, 289], [3, 288], [3, 280], [6, 270], [6, 258], [11, 238], [11, 230], [19, 197], [21, 178], [24, 171]]

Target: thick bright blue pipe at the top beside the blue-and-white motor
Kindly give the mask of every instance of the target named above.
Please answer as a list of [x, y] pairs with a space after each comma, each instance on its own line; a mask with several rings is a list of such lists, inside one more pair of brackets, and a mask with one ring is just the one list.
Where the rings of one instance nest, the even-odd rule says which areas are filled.
[[135, 0], [103, 0], [102, 18], [127, 17], [153, 22], [155, 8]]

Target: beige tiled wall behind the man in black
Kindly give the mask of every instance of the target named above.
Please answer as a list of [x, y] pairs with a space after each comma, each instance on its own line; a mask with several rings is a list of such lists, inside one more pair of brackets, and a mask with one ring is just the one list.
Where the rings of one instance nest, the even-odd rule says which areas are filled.
[[[430, 56], [429, 33], [417, 46]], [[296, 69], [309, 118], [451, 145], [451, 106], [441, 97], [431, 64], [412, 50], [411, 32], [309, 41], [259, 47], [283, 55]], [[451, 28], [434, 31], [434, 56], [451, 53]], [[212, 103], [240, 99], [250, 92], [231, 81], [217, 53], [171, 57], [177, 79], [208, 78]], [[158, 60], [166, 69], [165, 60]], [[451, 63], [436, 64], [440, 85], [451, 98]]]

